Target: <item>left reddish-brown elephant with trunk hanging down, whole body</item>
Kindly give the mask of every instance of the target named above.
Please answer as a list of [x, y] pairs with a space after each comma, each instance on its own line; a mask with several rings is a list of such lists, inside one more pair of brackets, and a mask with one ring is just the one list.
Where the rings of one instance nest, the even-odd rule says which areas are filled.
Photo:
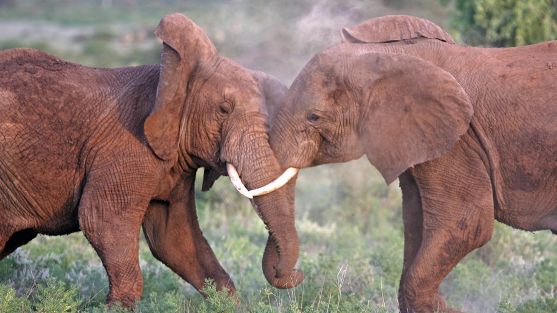
[[[227, 173], [243, 189], [280, 174], [265, 104], [286, 87], [219, 56], [182, 14], [155, 34], [160, 65], [94, 69], [27, 48], [0, 52], [0, 260], [37, 233], [81, 229], [108, 273], [109, 305], [140, 299], [141, 225], [153, 255], [184, 280], [234, 292], [199, 229], [196, 171], [206, 168], [203, 189]], [[253, 203], [270, 234], [265, 276], [296, 286], [303, 273], [292, 270], [298, 242], [283, 192]]]

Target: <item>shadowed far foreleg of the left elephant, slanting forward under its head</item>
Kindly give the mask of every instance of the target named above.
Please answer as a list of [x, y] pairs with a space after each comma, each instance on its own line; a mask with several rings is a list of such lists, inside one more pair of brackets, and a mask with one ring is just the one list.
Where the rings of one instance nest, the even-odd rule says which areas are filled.
[[217, 290], [227, 287], [233, 294], [234, 283], [199, 228], [193, 181], [192, 177], [186, 179], [179, 202], [149, 204], [143, 220], [145, 238], [153, 255], [197, 290], [205, 286], [206, 278], [211, 278], [217, 283]]

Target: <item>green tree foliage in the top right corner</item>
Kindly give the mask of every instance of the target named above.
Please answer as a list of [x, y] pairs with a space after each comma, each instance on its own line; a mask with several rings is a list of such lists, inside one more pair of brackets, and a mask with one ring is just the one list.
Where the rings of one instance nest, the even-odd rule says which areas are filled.
[[557, 0], [441, 0], [455, 3], [457, 40], [470, 46], [514, 47], [557, 40]]

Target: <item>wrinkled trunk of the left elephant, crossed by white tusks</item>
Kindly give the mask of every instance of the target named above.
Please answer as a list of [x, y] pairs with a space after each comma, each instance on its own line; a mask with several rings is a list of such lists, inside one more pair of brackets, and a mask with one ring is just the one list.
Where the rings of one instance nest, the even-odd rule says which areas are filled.
[[[237, 164], [238, 173], [249, 190], [271, 183], [282, 173], [267, 139], [266, 132], [261, 132], [243, 136], [236, 145], [240, 153], [232, 163]], [[288, 205], [284, 188], [256, 196], [252, 204], [269, 232], [262, 264], [267, 281], [277, 288], [297, 286], [304, 274], [293, 270], [298, 259], [299, 242], [294, 211]]]

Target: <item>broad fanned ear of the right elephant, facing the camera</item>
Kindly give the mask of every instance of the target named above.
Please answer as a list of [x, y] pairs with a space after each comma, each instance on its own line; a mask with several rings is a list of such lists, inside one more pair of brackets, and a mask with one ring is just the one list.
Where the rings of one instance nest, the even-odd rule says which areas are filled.
[[392, 183], [447, 153], [470, 125], [468, 95], [448, 72], [402, 53], [355, 56], [363, 79], [359, 135], [369, 161]]

